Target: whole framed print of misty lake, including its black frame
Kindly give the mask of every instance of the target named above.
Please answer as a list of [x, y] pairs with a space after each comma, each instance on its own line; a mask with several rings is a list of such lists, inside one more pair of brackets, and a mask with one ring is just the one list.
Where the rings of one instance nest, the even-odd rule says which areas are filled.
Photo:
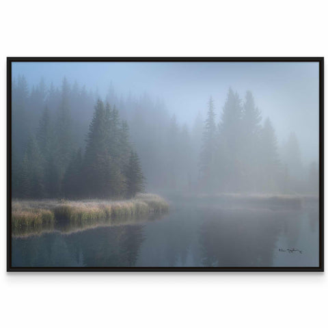
[[323, 58], [8, 58], [8, 271], [323, 271]]

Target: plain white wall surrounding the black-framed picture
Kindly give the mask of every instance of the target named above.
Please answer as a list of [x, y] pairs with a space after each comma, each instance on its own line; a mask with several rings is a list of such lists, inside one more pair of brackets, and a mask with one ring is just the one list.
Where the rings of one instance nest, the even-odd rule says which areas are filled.
[[5, 273], [5, 57], [328, 58], [327, 25], [318, 0], [2, 2], [0, 325], [324, 327], [325, 273]]

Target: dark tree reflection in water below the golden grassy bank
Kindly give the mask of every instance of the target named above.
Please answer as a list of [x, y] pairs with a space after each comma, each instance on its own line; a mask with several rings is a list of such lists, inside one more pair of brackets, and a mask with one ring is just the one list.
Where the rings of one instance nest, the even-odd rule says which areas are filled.
[[14, 267], [131, 267], [142, 242], [143, 225], [14, 238], [12, 262]]

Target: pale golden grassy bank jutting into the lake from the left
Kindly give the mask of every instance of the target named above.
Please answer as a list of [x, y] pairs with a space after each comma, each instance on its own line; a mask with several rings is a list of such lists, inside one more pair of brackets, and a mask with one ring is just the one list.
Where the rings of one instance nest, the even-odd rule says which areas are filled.
[[131, 200], [13, 200], [12, 228], [38, 229], [56, 222], [120, 222], [131, 217], [167, 212], [169, 205], [153, 194], [138, 194]]

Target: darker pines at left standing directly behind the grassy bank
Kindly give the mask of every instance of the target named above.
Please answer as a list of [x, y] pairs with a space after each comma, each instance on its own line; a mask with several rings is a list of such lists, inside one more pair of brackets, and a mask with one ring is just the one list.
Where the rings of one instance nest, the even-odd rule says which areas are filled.
[[142, 191], [139, 156], [118, 110], [96, 102], [83, 152], [74, 148], [69, 95], [64, 79], [57, 111], [44, 109], [23, 156], [13, 161], [13, 197], [122, 198]]

